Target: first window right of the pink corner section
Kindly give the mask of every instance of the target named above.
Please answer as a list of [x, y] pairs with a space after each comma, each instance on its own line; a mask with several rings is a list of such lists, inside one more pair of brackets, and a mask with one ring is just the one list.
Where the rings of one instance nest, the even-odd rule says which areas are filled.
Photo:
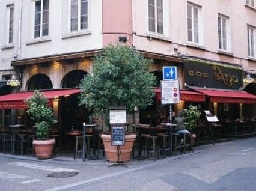
[[163, 34], [163, 0], [148, 0], [148, 28]]

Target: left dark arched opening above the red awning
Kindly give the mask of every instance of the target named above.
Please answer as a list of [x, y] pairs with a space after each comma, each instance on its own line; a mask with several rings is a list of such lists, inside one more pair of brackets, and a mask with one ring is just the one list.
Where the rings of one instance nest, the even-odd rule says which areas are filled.
[[52, 89], [52, 81], [46, 74], [35, 74], [30, 77], [27, 84], [26, 90], [35, 90], [35, 89]]

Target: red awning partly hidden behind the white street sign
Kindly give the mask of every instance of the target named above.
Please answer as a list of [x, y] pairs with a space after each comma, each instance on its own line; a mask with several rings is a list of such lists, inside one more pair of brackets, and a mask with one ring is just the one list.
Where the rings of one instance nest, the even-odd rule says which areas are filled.
[[[161, 101], [161, 89], [154, 88], [154, 92], [156, 93], [156, 99]], [[180, 89], [180, 99], [186, 102], [204, 102], [206, 95]]]

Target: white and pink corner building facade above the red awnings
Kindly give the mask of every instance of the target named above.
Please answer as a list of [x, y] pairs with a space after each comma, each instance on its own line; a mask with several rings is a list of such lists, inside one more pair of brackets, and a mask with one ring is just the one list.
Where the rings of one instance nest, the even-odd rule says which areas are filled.
[[[108, 43], [127, 44], [154, 59], [150, 70], [159, 86], [162, 67], [174, 65], [181, 88], [239, 91], [247, 86], [255, 91], [255, 83], [243, 83], [246, 74], [256, 77], [254, 0], [4, 0], [0, 4], [4, 26], [0, 77], [16, 74], [22, 91], [78, 86], [84, 74], [91, 73], [93, 56]], [[218, 74], [212, 78], [214, 72]], [[182, 107], [184, 103], [176, 109]], [[255, 104], [249, 109], [255, 114]]]

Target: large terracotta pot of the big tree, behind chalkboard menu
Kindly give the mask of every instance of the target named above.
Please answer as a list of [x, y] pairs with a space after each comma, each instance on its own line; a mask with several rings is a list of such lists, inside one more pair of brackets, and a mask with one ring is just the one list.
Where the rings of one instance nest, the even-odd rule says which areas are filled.
[[[102, 134], [100, 137], [102, 138], [102, 141], [103, 141], [106, 159], [109, 162], [113, 162], [113, 163], [118, 162], [117, 146], [111, 145], [111, 135]], [[125, 144], [120, 146], [121, 148], [121, 154], [119, 159], [120, 162], [129, 162], [130, 157], [132, 155], [132, 148], [133, 148], [135, 139], [136, 139], [136, 134], [125, 135]]]

